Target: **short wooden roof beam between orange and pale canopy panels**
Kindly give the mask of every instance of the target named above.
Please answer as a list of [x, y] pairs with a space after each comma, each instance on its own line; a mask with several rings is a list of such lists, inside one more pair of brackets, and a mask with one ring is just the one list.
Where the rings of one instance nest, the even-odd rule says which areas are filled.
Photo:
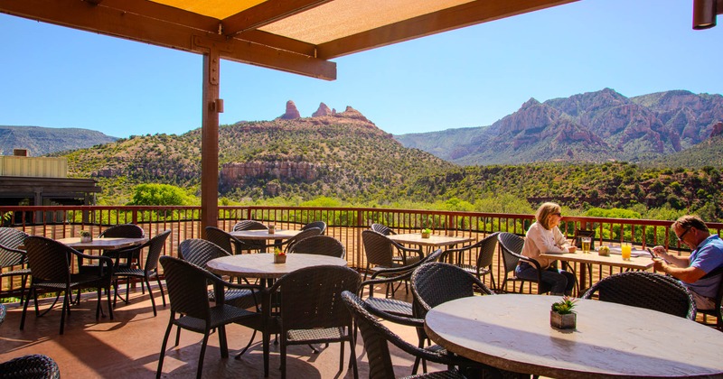
[[258, 29], [294, 14], [300, 14], [332, 0], [267, 0], [223, 20], [223, 33], [234, 36], [239, 32]]

